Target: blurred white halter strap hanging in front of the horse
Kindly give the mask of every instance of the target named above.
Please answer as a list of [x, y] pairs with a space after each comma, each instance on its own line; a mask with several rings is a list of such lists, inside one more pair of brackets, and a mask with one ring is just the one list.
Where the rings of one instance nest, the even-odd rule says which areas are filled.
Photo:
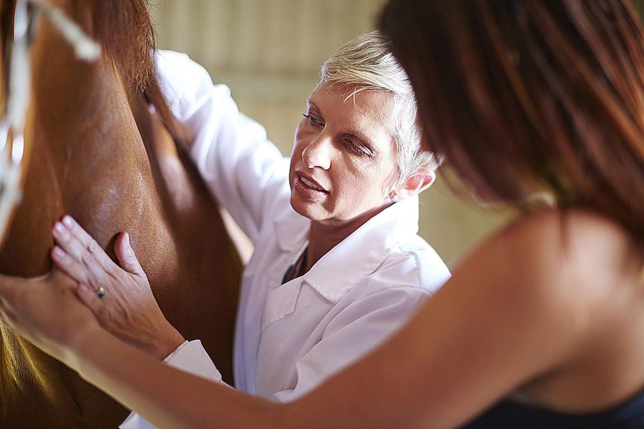
[[100, 45], [90, 39], [62, 10], [44, 0], [16, 0], [14, 35], [10, 44], [7, 107], [0, 120], [0, 244], [8, 230], [12, 210], [22, 198], [24, 127], [31, 83], [29, 4], [34, 7], [35, 13], [42, 13], [60, 31], [63, 38], [74, 47], [79, 59], [94, 61], [101, 54]]

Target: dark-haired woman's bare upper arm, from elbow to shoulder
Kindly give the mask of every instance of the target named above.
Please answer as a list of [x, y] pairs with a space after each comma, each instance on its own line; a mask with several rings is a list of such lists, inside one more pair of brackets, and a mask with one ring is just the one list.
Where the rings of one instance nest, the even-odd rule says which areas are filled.
[[589, 300], [567, 270], [560, 223], [487, 240], [398, 334], [290, 415], [333, 409], [329, 427], [454, 428], [573, 363]]

